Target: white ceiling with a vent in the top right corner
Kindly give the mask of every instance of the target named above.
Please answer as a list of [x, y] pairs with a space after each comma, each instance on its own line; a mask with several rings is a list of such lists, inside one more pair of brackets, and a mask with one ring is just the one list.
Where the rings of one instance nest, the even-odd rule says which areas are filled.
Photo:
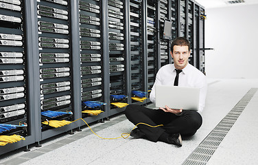
[[[204, 8], [224, 8], [237, 5], [253, 5], [258, 4], [258, 0], [196, 0]], [[244, 1], [244, 3], [228, 3], [228, 1]]]

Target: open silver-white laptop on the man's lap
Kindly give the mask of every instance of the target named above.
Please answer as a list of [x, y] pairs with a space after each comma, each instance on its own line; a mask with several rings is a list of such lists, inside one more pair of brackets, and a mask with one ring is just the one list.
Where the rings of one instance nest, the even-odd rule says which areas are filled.
[[200, 88], [155, 85], [156, 107], [199, 110]]

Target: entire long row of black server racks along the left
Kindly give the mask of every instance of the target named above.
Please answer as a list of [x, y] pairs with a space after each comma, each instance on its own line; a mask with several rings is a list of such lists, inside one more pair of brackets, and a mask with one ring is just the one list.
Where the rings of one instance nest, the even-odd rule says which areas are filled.
[[[128, 104], [150, 102], [136, 102], [130, 96], [132, 90], [150, 90], [159, 68], [173, 63], [170, 42], [164, 42], [161, 36], [165, 19], [173, 21], [172, 41], [181, 34], [189, 39], [192, 50], [189, 63], [205, 71], [204, 19], [200, 17], [204, 8], [195, 1], [0, 0], [0, 3], [4, 4], [1, 16], [8, 16], [0, 19], [0, 33], [8, 34], [0, 39], [0, 70], [5, 71], [1, 72], [5, 75], [0, 75], [0, 115], [5, 116], [5, 107], [15, 105], [12, 114], [24, 109], [21, 111], [24, 114], [0, 121], [27, 123], [25, 129], [16, 131], [26, 140], [1, 146], [0, 154], [84, 125], [81, 121], [58, 129], [42, 125], [41, 111], [45, 111], [45, 106], [56, 105], [51, 109], [54, 111], [72, 111], [72, 115], [64, 116], [66, 120], [84, 118], [90, 123], [124, 111], [110, 106], [110, 94], [129, 96], [124, 101]], [[9, 6], [15, 8], [10, 10]], [[18, 38], [14, 40], [16, 36], [12, 38], [9, 34]], [[17, 75], [6, 75], [14, 73]], [[85, 100], [106, 102], [104, 113], [82, 114]]]

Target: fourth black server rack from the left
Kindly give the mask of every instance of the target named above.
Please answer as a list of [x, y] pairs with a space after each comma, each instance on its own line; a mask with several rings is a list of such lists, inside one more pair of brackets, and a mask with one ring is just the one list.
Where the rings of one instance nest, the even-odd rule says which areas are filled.
[[[126, 1], [108, 0], [108, 48], [110, 74], [110, 103], [128, 103], [126, 85]], [[124, 111], [125, 107], [110, 104], [108, 115]]]

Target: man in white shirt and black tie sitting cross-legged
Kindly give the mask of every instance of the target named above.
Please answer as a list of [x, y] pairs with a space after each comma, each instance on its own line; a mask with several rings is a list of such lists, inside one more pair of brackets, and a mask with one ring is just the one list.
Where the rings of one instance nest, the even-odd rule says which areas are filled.
[[[180, 135], [193, 135], [202, 125], [200, 112], [204, 109], [207, 81], [202, 72], [188, 63], [191, 50], [187, 39], [179, 37], [172, 42], [171, 47], [170, 54], [174, 59], [174, 64], [168, 64], [159, 69], [150, 93], [150, 100], [155, 103], [155, 85], [198, 87], [200, 88], [199, 111], [184, 111], [183, 109], [173, 109], [173, 107], [167, 106], [159, 109], [148, 109], [136, 104], [130, 104], [126, 107], [125, 114], [133, 124], [138, 124], [139, 122], [151, 126], [163, 124], [163, 126], [155, 128], [139, 124], [137, 129], [131, 131], [130, 135], [132, 137], [147, 138], [152, 142], [161, 141], [182, 146]], [[185, 101], [187, 102], [187, 100]]]

